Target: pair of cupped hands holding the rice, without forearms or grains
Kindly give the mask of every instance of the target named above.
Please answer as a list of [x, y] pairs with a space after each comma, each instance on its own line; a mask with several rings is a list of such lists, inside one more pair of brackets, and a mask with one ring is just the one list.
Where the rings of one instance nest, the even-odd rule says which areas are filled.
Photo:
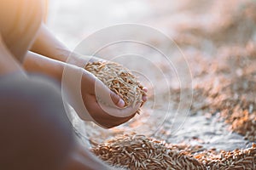
[[[73, 58], [73, 64], [82, 68], [84, 68], [86, 63], [96, 61], [104, 61], [104, 59], [81, 55], [79, 55], [79, 58]], [[119, 95], [114, 94], [103, 82], [89, 71], [82, 68], [79, 70], [82, 71], [82, 73], [79, 73], [81, 74], [81, 84], [79, 88], [81, 89], [83, 107], [85, 110], [79, 109], [82, 107], [81, 105], [79, 105], [79, 107], [74, 106], [74, 109], [77, 110], [81, 119], [84, 121], [90, 120], [102, 127], [110, 128], [128, 122], [135, 116], [137, 110], [143, 103], [137, 104], [134, 107], [128, 106], [124, 108], [125, 102]], [[79, 71], [74, 71], [74, 73]], [[73, 75], [74, 74], [71, 74], [70, 76], [73, 77]], [[147, 92], [147, 88], [143, 90]], [[77, 96], [74, 99], [78, 99]], [[143, 102], [146, 100], [147, 96], [143, 95]], [[88, 118], [88, 115], [90, 115], [90, 118]]]

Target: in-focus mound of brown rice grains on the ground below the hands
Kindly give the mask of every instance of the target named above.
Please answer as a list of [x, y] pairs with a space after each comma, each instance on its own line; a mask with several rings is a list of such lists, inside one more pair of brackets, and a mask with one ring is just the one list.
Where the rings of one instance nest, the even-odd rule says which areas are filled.
[[128, 169], [205, 169], [193, 156], [160, 140], [144, 135], [120, 135], [91, 149], [96, 156], [116, 167]]

